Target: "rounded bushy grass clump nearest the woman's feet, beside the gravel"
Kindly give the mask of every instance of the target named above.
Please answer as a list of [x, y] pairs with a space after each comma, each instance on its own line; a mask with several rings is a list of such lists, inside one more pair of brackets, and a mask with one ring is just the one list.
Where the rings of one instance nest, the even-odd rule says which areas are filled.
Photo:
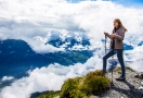
[[103, 76], [102, 72], [96, 70], [84, 76], [81, 90], [87, 95], [99, 95], [104, 93], [110, 86], [110, 81]]

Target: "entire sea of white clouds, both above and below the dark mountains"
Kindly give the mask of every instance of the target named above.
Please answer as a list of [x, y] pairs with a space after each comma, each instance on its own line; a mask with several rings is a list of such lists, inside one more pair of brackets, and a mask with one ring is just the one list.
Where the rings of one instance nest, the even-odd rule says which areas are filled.
[[[90, 39], [96, 49], [86, 63], [63, 66], [57, 63], [29, 71], [29, 76], [15, 79], [11, 86], [1, 89], [0, 98], [28, 98], [31, 93], [60, 90], [68, 77], [81, 76], [95, 69], [102, 69], [104, 45], [103, 32], [110, 33], [114, 19], [119, 17], [128, 28], [125, 42], [133, 50], [125, 51], [130, 66], [143, 71], [143, 9], [127, 8], [112, 1], [82, 1], [68, 3], [65, 0], [0, 0], [0, 39], [23, 39], [38, 53], [65, 51], [44, 45], [53, 38], [65, 40]], [[75, 46], [76, 49], [81, 46]], [[3, 77], [3, 79], [11, 79]]]

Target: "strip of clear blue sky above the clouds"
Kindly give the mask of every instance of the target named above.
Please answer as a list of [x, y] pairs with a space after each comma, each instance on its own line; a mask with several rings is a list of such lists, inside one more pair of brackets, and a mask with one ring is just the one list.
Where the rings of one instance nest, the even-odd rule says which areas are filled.
[[[80, 1], [88, 1], [88, 0], [67, 0], [67, 1], [72, 1], [73, 3], [77, 3]], [[91, 1], [96, 1], [96, 0], [91, 0]], [[102, 1], [113, 1], [115, 3], [119, 3], [122, 5], [127, 5], [127, 7], [141, 7], [143, 5], [143, 0], [102, 0]]]

